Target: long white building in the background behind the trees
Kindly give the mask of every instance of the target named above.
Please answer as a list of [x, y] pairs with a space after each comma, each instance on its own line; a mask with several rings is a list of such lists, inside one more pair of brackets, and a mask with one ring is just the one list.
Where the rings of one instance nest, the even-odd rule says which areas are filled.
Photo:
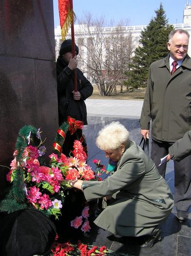
[[[185, 9], [183, 11], [183, 23], [172, 24], [172, 25], [175, 27], [175, 29], [187, 30], [188, 33], [190, 34], [190, 38], [191, 38], [191, 4], [188, 3], [188, 1], [186, 1]], [[127, 33], [129, 31], [131, 32], [131, 34], [133, 36], [133, 43], [134, 43], [135, 48], [138, 46], [138, 41], [140, 39], [141, 31], [146, 27], [147, 27], [147, 25], [123, 27], [124, 33], [126, 33], [126, 31], [127, 31]], [[76, 41], [77, 45], [78, 45], [78, 38], [81, 38], [80, 33], [78, 33], [78, 29], [79, 29], [79, 25], [74, 25], [75, 41]], [[104, 34], [108, 34], [108, 33], [112, 33], [112, 31], [114, 29], [115, 29], [115, 27], [104, 27], [103, 31], [104, 31]], [[84, 25], [84, 30], [85, 30], [85, 25]], [[68, 32], [68, 34], [66, 36], [66, 39], [67, 38], [71, 38], [70, 31]], [[61, 43], [62, 43], [61, 30], [60, 30], [60, 26], [57, 26], [57, 28], [55, 28], [56, 58], [58, 57]], [[188, 54], [191, 57], [191, 39], [189, 40]]]

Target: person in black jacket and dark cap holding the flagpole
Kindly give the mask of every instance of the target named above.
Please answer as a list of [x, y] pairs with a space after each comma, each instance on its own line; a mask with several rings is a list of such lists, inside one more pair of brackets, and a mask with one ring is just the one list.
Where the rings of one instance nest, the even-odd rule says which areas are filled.
[[[77, 68], [79, 48], [76, 44], [75, 51], [76, 56], [73, 58], [71, 39], [64, 40], [56, 62], [59, 125], [67, 121], [68, 117], [74, 118], [75, 121], [82, 121], [83, 125], [87, 124], [87, 111], [84, 100], [91, 96], [93, 87], [82, 71]], [[75, 92], [74, 85], [75, 69], [77, 69], [77, 92]], [[66, 134], [62, 149], [62, 153], [66, 156], [69, 156], [70, 151], [73, 150], [75, 139], [80, 140], [85, 151], [87, 150], [82, 129], [77, 129], [72, 135], [70, 132]]]

